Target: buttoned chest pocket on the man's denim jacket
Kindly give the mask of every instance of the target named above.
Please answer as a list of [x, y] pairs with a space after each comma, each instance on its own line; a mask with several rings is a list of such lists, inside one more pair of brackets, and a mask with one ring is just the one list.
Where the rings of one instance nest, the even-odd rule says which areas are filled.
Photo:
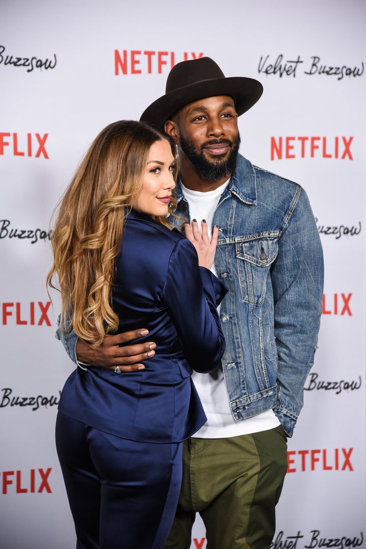
[[238, 238], [235, 242], [240, 290], [243, 301], [261, 305], [266, 295], [269, 269], [278, 253], [277, 237]]

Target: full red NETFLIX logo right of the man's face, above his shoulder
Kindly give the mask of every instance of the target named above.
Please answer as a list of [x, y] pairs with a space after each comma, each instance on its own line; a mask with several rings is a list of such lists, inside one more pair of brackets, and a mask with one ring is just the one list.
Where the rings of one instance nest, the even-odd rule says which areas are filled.
[[353, 160], [353, 137], [271, 137], [271, 160], [337, 158]]

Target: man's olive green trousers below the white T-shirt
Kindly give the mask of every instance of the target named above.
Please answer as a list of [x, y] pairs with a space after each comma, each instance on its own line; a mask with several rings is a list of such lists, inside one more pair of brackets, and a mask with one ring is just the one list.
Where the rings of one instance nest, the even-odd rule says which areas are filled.
[[206, 549], [267, 549], [286, 470], [287, 438], [280, 425], [185, 441], [182, 488], [165, 549], [189, 549], [196, 513], [206, 527]]

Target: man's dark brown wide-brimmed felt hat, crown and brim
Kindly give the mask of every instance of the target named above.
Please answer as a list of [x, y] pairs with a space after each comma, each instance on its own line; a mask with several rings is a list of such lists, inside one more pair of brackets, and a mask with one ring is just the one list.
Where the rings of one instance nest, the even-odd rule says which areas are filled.
[[263, 86], [244, 76], [226, 78], [210, 57], [181, 61], [173, 66], [165, 95], [145, 109], [140, 121], [164, 127], [166, 120], [188, 103], [213, 96], [230, 96], [235, 100], [238, 115], [249, 110], [261, 97]]

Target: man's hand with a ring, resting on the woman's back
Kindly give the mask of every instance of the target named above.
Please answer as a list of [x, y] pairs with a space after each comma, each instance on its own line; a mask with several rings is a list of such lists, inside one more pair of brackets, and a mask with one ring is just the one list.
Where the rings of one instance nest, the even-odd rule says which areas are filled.
[[148, 343], [134, 343], [123, 347], [120, 347], [120, 344], [142, 338], [148, 333], [147, 329], [141, 329], [117, 335], [105, 335], [102, 344], [97, 348], [78, 338], [76, 343], [77, 360], [92, 366], [102, 366], [113, 370], [116, 366], [119, 366], [122, 372], [143, 370], [145, 366], [141, 361], [148, 360], [148, 358], [155, 355], [155, 343], [149, 341]]

